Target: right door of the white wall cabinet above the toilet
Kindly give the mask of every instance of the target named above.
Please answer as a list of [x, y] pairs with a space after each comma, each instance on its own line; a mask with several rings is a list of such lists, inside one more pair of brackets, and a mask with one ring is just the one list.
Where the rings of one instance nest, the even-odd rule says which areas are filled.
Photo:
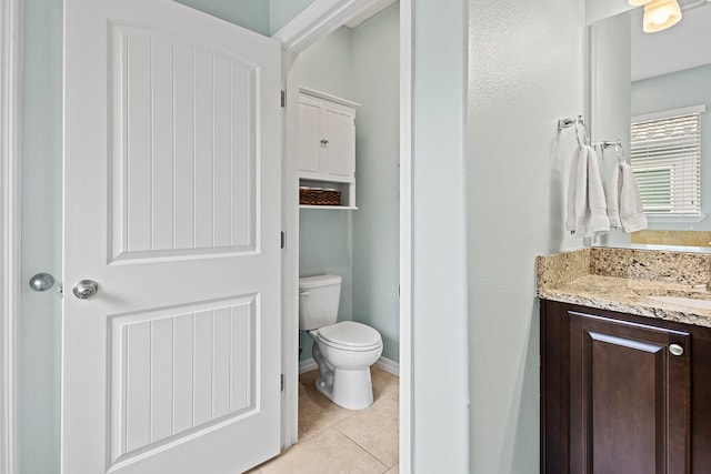
[[327, 174], [338, 181], [351, 181], [356, 171], [356, 115], [352, 110], [332, 105], [323, 108], [328, 137]]

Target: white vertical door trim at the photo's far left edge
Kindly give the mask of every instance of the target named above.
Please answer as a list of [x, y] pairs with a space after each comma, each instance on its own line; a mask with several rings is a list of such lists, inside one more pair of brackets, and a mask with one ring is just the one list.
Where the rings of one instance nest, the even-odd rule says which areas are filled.
[[17, 472], [22, 0], [0, 3], [0, 474]]

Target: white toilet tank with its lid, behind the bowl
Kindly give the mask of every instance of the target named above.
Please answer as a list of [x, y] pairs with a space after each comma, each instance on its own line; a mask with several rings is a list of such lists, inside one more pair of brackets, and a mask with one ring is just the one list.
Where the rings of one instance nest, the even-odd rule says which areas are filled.
[[339, 275], [299, 279], [299, 329], [310, 331], [336, 323], [340, 296]]

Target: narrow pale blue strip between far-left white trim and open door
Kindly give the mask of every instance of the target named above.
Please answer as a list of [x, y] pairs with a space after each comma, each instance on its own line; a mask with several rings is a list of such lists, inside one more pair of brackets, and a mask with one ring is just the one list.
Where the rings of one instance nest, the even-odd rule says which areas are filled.
[[62, 0], [24, 1], [20, 472], [59, 472], [61, 299], [26, 283], [61, 284]]

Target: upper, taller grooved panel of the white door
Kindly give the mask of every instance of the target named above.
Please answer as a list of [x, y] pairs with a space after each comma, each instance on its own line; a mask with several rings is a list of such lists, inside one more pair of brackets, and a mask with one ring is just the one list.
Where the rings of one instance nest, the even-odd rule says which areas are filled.
[[179, 37], [111, 30], [113, 258], [254, 251], [259, 71]]

